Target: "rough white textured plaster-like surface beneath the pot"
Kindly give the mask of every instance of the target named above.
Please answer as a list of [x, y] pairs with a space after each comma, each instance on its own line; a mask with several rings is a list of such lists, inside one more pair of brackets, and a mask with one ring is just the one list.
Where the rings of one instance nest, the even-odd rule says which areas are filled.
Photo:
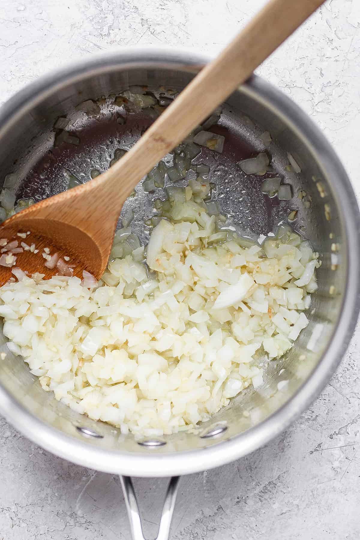
[[[299, 0], [300, 1], [300, 0]], [[0, 102], [69, 60], [119, 45], [215, 53], [263, 0], [2, 0]], [[358, 195], [360, 3], [330, 0], [259, 73], [320, 126]], [[182, 479], [171, 538], [358, 540], [360, 328], [329, 386], [254, 454]], [[48, 454], [0, 417], [0, 540], [130, 539], [117, 478]], [[165, 481], [138, 479], [148, 537]]]

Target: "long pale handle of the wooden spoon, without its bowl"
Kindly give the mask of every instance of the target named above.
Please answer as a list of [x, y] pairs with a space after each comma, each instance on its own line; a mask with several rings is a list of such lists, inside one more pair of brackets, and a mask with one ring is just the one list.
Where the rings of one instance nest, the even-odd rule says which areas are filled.
[[118, 178], [119, 170], [121, 177], [127, 179], [128, 183], [120, 188], [123, 200], [140, 178], [209, 116], [323, 2], [270, 0], [220, 56], [196, 75], [131, 151], [105, 173]]

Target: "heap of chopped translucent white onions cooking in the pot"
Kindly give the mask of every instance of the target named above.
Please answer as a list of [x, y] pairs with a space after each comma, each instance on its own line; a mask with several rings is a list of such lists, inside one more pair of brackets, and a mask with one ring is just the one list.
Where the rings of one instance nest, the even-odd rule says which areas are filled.
[[[179, 145], [173, 168], [184, 174], [199, 152]], [[50, 249], [45, 264], [60, 274], [50, 280], [13, 268], [10, 252], [0, 257], [18, 279], [0, 287], [11, 352], [57, 400], [121, 433], [193, 430], [242, 389], [261, 388], [264, 359], [281, 357], [308, 325], [320, 266], [310, 242], [285, 224], [257, 241], [223, 228], [209, 169], [196, 168], [187, 186], [167, 186], [168, 199], [154, 201], [146, 251], [124, 211], [99, 282], [86, 271], [72, 277]], [[157, 187], [166, 171], [161, 162], [147, 180]]]

